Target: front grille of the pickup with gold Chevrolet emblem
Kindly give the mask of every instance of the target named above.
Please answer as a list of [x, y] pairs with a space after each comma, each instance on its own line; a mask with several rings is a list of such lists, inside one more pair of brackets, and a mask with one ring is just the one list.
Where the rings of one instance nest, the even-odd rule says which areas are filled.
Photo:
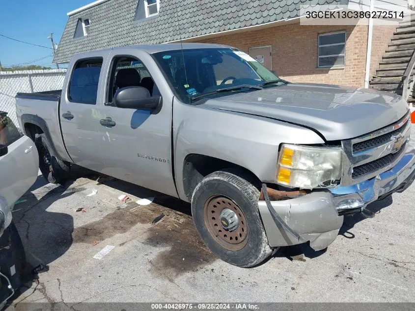
[[357, 184], [390, 170], [402, 158], [410, 130], [408, 112], [392, 125], [342, 141], [344, 161], [341, 185]]

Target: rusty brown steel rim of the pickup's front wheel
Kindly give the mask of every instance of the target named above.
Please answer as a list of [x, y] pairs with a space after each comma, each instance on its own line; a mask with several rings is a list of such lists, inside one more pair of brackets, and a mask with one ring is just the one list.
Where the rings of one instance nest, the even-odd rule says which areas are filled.
[[[233, 231], [221, 225], [220, 215], [225, 208], [231, 209], [239, 219], [239, 225]], [[239, 251], [247, 245], [249, 238], [247, 220], [238, 204], [230, 198], [222, 195], [209, 198], [204, 206], [204, 221], [209, 233], [225, 249]]]

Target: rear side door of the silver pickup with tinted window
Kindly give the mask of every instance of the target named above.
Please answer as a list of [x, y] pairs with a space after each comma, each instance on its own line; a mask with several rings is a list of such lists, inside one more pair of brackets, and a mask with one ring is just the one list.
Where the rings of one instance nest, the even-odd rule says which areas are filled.
[[78, 60], [69, 68], [70, 79], [60, 102], [60, 124], [65, 146], [72, 160], [90, 170], [104, 166], [100, 152], [98, 126], [102, 116], [97, 100], [100, 90], [103, 57]]

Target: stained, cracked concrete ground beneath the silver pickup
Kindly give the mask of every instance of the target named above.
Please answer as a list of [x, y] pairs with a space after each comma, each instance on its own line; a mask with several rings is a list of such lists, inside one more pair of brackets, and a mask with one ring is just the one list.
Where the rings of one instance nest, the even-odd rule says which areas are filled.
[[[96, 189], [92, 197], [87, 195]], [[39, 176], [13, 218], [31, 266], [21, 302], [415, 302], [415, 186], [346, 217], [332, 245], [281, 248], [251, 269], [229, 265], [202, 244], [190, 205], [86, 175], [63, 186]], [[117, 198], [127, 194], [125, 205]], [[138, 198], [155, 197], [139, 206]], [[83, 211], [76, 212], [82, 207]], [[125, 208], [120, 208], [125, 207]], [[152, 225], [154, 218], [166, 216]], [[93, 256], [114, 246], [103, 259]], [[22, 309], [22, 308], [21, 308]]]

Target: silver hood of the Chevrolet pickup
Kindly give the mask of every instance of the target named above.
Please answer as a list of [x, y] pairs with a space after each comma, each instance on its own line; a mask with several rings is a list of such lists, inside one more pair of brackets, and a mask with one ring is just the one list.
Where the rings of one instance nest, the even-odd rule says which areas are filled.
[[408, 111], [402, 97], [393, 93], [300, 83], [210, 99], [201, 106], [299, 124], [327, 141], [373, 132]]

